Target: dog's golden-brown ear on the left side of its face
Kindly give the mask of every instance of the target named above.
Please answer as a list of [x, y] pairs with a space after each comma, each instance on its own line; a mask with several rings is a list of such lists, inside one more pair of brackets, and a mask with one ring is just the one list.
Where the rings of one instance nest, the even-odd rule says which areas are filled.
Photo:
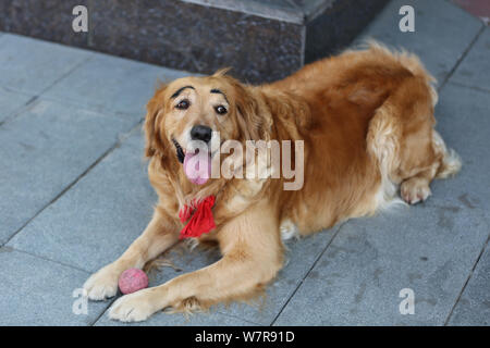
[[155, 96], [146, 104], [146, 119], [145, 119], [145, 156], [152, 157], [157, 151], [163, 153], [163, 141], [160, 137], [160, 126], [157, 124], [157, 117], [163, 108], [163, 92], [167, 86], [161, 85], [155, 91]]

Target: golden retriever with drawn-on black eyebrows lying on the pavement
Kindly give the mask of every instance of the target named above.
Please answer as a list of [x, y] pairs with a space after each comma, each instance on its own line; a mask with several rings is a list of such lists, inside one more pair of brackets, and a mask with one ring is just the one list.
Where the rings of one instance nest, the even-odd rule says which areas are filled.
[[[180, 212], [197, 211], [208, 197], [216, 198], [208, 206], [213, 228], [189, 240], [216, 243], [222, 258], [119, 298], [111, 319], [144, 321], [166, 308], [185, 311], [250, 298], [281, 270], [283, 237], [307, 236], [402, 199], [426, 200], [433, 178], [461, 167], [434, 130], [433, 82], [415, 55], [371, 42], [272, 84], [245, 85], [220, 71], [158, 88], [144, 124], [149, 181], [159, 197], [154, 217], [118, 260], [88, 278], [88, 298], [113, 297], [123, 271], [142, 269], [174, 246], [188, 217], [181, 220]], [[194, 140], [209, 147], [196, 150]], [[270, 152], [267, 161], [254, 154], [230, 162], [232, 170], [255, 163], [261, 175], [209, 176], [216, 159], [233, 157], [220, 150], [226, 140], [290, 140], [291, 165], [304, 171], [301, 187], [285, 188], [292, 178], [281, 174], [284, 167]], [[188, 161], [196, 157], [212, 165], [193, 176]]]

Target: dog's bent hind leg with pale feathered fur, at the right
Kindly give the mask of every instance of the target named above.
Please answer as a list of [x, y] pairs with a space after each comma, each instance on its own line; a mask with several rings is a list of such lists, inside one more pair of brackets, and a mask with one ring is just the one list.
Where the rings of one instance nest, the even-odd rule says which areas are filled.
[[433, 92], [426, 80], [413, 77], [381, 105], [371, 120], [368, 149], [378, 159], [382, 177], [401, 185], [409, 204], [426, 200], [434, 177], [456, 173], [461, 162], [433, 129]]

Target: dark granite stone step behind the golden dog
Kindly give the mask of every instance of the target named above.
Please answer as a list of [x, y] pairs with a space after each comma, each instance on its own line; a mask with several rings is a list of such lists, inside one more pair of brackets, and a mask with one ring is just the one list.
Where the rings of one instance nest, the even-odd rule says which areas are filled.
[[[274, 80], [346, 46], [387, 0], [2, 0], [0, 30], [194, 73]], [[74, 33], [72, 10], [88, 9]]]

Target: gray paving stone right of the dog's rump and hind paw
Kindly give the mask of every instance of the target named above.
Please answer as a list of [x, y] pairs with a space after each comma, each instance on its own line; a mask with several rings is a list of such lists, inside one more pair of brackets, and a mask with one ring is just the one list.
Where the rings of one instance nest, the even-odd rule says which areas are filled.
[[[490, 92], [449, 83], [436, 107], [437, 128], [463, 160], [462, 171], [450, 181], [431, 185], [433, 197], [453, 206], [490, 212]], [[431, 198], [428, 203], [431, 204]]]

